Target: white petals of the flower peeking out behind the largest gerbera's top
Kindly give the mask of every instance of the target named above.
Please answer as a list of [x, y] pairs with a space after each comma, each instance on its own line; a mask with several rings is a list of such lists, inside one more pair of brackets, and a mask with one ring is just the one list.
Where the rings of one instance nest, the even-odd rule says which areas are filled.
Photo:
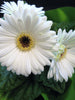
[[33, 10], [35, 13], [38, 13], [38, 15], [44, 15], [44, 11], [42, 11], [43, 7], [36, 7], [35, 5], [28, 5], [27, 3], [24, 3], [24, 1], [17, 1], [17, 4], [13, 1], [9, 2], [4, 2], [4, 4], [1, 6], [2, 10], [1, 13], [6, 13], [6, 14], [12, 14], [13, 12], [20, 10], [23, 11], [23, 9], [31, 10], [31, 13]]

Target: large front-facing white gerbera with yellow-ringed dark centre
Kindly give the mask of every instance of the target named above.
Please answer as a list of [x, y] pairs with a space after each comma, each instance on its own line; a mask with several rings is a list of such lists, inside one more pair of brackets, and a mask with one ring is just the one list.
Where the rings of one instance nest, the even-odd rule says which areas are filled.
[[52, 21], [28, 8], [4, 14], [0, 24], [1, 65], [17, 75], [40, 74], [50, 64], [53, 54], [49, 50], [56, 43], [56, 33], [50, 31]]

